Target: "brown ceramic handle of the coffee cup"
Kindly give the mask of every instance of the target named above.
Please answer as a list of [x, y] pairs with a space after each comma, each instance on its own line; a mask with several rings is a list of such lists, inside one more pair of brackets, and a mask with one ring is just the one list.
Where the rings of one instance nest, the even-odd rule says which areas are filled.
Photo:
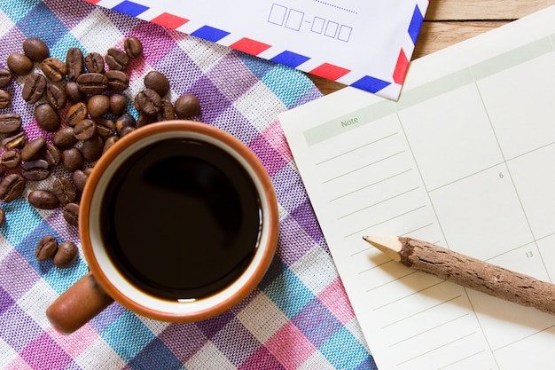
[[46, 317], [59, 332], [71, 334], [104, 311], [110, 303], [113, 303], [113, 298], [89, 272], [46, 309]]

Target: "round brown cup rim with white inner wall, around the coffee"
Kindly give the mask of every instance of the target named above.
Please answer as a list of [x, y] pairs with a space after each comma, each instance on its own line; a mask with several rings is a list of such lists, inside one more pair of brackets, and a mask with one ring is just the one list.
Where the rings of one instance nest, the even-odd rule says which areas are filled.
[[[99, 234], [99, 204], [111, 171], [138, 148], [163, 138], [198, 138], [223, 147], [243, 163], [258, 189], [262, 203], [261, 241], [253, 261], [231, 286], [198, 300], [168, 301], [148, 295], [133, 286], [109, 261]], [[82, 193], [79, 213], [82, 250], [95, 279], [108, 295], [131, 311], [151, 319], [184, 322], [207, 319], [230, 309], [253, 291], [268, 270], [277, 246], [278, 210], [276, 195], [266, 170], [256, 156], [237, 138], [206, 123], [167, 121], [152, 123], [118, 140], [98, 160]]]

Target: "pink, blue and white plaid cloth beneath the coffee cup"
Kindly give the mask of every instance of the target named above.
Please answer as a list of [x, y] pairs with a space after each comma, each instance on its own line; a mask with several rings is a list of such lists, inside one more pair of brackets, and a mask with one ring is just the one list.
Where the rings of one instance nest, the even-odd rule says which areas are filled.
[[[18, 200], [0, 204], [6, 213], [0, 225], [0, 367], [375, 369], [277, 122], [278, 113], [321, 96], [306, 76], [77, 0], [0, 0], [1, 67], [29, 36], [42, 38], [51, 56], [65, 60], [70, 47], [85, 54], [122, 49], [129, 35], [145, 46], [144, 57], [129, 66], [129, 112], [137, 117], [132, 97], [150, 70], [168, 76], [172, 101], [197, 95], [199, 121], [242, 140], [270, 174], [280, 209], [277, 256], [260, 286], [215, 319], [169, 324], [113, 303], [73, 335], [59, 335], [44, 311], [87, 264], [82, 256], [66, 269], [36, 261], [35, 245], [44, 235], [80, 246], [79, 234], [60, 209], [33, 209], [26, 200], [30, 190], [67, 176], [57, 169], [47, 180], [29, 182]], [[33, 106], [20, 98], [23, 81], [18, 77], [6, 88], [12, 106], [1, 112], [19, 113], [30, 140], [45, 133]]]

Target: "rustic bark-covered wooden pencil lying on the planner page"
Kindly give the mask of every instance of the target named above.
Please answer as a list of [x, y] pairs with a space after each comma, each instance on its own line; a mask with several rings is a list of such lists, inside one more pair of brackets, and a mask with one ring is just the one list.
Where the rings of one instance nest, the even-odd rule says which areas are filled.
[[422, 240], [363, 236], [375, 248], [412, 269], [463, 287], [555, 314], [555, 285]]

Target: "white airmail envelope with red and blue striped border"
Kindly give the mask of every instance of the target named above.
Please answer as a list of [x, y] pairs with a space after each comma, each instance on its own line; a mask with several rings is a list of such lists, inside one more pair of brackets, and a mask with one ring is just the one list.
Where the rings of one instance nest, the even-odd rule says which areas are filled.
[[86, 0], [396, 99], [428, 0]]

